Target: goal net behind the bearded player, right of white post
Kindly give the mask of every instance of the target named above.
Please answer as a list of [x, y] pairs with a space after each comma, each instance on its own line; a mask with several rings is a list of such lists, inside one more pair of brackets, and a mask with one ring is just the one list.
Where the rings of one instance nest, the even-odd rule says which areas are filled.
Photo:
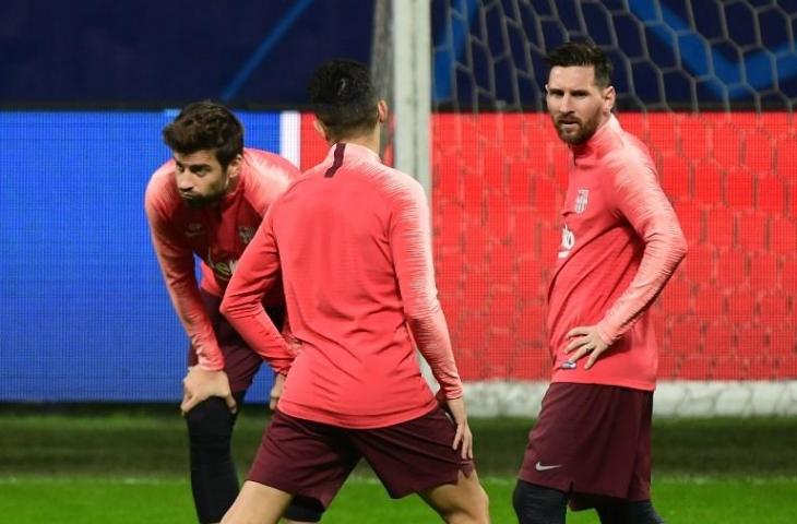
[[653, 307], [656, 413], [797, 413], [797, 4], [432, 0], [429, 15], [435, 260], [472, 410], [534, 414], [546, 389], [567, 150], [544, 57], [591, 39], [690, 246]]

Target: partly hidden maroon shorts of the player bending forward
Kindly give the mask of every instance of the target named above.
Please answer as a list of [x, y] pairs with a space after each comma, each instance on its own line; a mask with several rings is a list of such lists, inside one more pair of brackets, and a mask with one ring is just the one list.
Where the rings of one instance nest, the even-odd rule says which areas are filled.
[[[211, 295], [201, 288], [200, 295], [202, 296], [205, 312], [211, 319], [211, 324], [213, 324], [218, 347], [222, 350], [222, 355], [224, 355], [224, 372], [227, 373], [227, 378], [229, 379], [229, 388], [233, 393], [246, 391], [252, 385], [252, 379], [260, 369], [263, 359], [249, 347], [246, 341], [227, 322], [227, 319], [218, 312], [218, 307], [222, 305], [222, 297]], [[284, 307], [269, 307], [266, 308], [266, 312], [274, 322], [274, 325], [277, 327], [283, 326], [285, 321]], [[195, 366], [197, 364], [197, 350], [193, 346], [189, 345], [188, 365]]]

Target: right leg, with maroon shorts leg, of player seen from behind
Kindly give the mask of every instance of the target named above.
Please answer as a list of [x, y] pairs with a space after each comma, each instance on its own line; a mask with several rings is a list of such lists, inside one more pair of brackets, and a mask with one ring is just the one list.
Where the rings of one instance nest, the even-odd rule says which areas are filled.
[[392, 498], [418, 493], [445, 522], [489, 522], [487, 493], [473, 461], [452, 450], [456, 426], [438, 407], [385, 428], [349, 430]]

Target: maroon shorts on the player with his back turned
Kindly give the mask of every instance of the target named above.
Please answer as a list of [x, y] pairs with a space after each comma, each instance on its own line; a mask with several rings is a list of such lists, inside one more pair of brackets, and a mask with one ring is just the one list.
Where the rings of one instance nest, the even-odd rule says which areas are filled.
[[406, 422], [377, 429], [348, 429], [275, 412], [249, 471], [253, 480], [318, 500], [324, 508], [360, 457], [394, 499], [443, 484], [473, 461], [452, 450], [456, 426], [442, 408]]

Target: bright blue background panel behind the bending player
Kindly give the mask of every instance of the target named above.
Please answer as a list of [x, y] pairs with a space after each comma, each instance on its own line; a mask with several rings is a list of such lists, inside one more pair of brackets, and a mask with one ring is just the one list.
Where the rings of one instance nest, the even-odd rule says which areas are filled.
[[[0, 112], [0, 401], [179, 400], [188, 343], [143, 211], [175, 115]], [[278, 114], [239, 116], [278, 151]]]

